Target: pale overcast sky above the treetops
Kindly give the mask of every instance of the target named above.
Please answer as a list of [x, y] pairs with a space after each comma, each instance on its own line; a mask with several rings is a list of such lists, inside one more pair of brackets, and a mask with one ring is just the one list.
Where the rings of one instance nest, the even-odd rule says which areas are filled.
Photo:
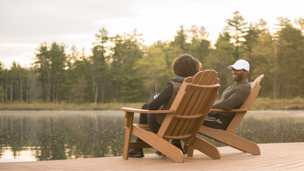
[[29, 67], [43, 42], [73, 44], [90, 54], [99, 29], [109, 36], [143, 33], [144, 44], [172, 40], [180, 25], [204, 26], [214, 43], [225, 19], [240, 11], [246, 22], [304, 18], [303, 0], [0, 0], [0, 61]]

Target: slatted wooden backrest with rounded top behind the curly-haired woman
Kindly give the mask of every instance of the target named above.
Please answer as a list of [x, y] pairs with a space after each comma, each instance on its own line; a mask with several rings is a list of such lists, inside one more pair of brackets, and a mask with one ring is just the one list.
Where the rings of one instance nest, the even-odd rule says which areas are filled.
[[198, 72], [184, 80], [158, 135], [168, 139], [195, 138], [212, 104], [218, 96], [218, 73], [213, 70]]

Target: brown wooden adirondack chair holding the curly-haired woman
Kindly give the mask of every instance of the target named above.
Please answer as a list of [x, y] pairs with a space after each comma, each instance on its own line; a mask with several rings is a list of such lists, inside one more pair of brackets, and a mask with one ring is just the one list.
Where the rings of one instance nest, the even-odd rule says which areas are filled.
[[[130, 148], [156, 148], [175, 162], [184, 162], [183, 153], [168, 142], [169, 139], [180, 139], [203, 153], [210, 153], [212, 158], [219, 159], [218, 149], [196, 136], [218, 96], [220, 85], [217, 77], [217, 72], [205, 70], [198, 72], [193, 79], [192, 77], [186, 78], [170, 110], [121, 108], [125, 111], [126, 117], [123, 159], [128, 159]], [[155, 134], [150, 131], [148, 124], [133, 124], [134, 113], [167, 113], [167, 115], [161, 128]], [[131, 133], [142, 139], [143, 142], [130, 142]], [[202, 146], [206, 143], [211, 147], [210, 149]]]

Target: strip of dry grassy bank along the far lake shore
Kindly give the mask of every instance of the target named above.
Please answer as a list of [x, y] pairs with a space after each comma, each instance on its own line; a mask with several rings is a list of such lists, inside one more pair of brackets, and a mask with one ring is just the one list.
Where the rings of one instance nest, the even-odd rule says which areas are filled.
[[[0, 110], [120, 110], [121, 107], [140, 109], [143, 103], [105, 103], [105, 104], [68, 104], [68, 103], [0, 103]], [[257, 98], [250, 110], [304, 110], [304, 98], [269, 99]]]

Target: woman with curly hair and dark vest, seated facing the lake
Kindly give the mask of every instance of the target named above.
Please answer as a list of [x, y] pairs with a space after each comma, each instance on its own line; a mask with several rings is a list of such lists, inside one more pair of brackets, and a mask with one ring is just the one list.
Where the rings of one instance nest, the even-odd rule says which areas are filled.
[[[193, 58], [189, 54], [182, 54], [174, 59], [172, 63], [172, 72], [176, 77], [171, 78], [172, 82], [169, 82], [161, 93], [154, 93], [150, 99], [150, 103], [145, 103], [141, 109], [144, 110], [169, 110], [177, 93], [181, 87], [182, 82], [186, 77], [193, 77], [202, 67], [201, 62]], [[149, 124], [151, 131], [157, 133], [166, 117], [166, 113], [140, 113], [139, 124]], [[142, 141], [140, 138], [136, 138], [136, 142]], [[172, 140], [173, 145], [181, 149], [185, 154], [185, 151], [181, 147], [180, 140]], [[156, 154], [161, 155], [159, 151]], [[143, 149], [130, 149], [129, 157], [143, 157]]]

